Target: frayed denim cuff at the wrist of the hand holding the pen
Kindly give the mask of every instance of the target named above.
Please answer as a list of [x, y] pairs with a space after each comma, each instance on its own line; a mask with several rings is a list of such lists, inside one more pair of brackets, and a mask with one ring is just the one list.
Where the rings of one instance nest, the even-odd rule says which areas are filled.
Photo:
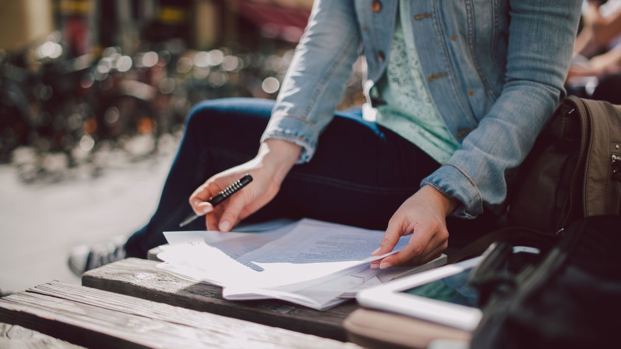
[[272, 115], [268, 127], [263, 132], [261, 143], [267, 139], [281, 139], [301, 146], [302, 153], [296, 161], [297, 165], [307, 163], [314, 155], [315, 148], [317, 148], [315, 134], [316, 130], [312, 122], [298, 116], [276, 113]]

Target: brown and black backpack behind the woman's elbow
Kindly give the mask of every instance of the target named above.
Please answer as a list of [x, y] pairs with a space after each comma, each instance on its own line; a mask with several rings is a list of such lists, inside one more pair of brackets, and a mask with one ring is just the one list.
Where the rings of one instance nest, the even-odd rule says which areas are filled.
[[621, 106], [565, 98], [511, 190], [509, 225], [541, 232], [582, 217], [621, 214]]

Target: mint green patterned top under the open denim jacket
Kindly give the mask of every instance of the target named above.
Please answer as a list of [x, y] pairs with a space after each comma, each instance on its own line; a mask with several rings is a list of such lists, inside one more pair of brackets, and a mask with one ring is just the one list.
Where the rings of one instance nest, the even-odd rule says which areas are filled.
[[442, 164], [460, 144], [446, 129], [425, 86], [411, 23], [404, 18], [410, 13], [409, 1], [399, 1], [399, 7], [388, 66], [376, 84], [377, 93], [386, 102], [378, 106], [376, 122]]

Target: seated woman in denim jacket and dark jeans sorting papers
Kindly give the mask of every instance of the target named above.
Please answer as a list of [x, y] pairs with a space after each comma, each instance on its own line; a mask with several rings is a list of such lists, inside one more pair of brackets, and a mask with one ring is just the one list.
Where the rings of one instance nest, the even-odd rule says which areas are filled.
[[[316, 0], [275, 104], [199, 104], [149, 224], [113, 251], [74, 257], [74, 268], [144, 257], [191, 212], [188, 196], [208, 229], [279, 216], [388, 225], [374, 254], [413, 235], [373, 268], [432, 260], [448, 245], [448, 215], [502, 209], [507, 181], [564, 96], [580, 7]], [[361, 47], [363, 114], [376, 122], [334, 117]], [[215, 209], [204, 202], [246, 173], [254, 181], [239, 194]]]

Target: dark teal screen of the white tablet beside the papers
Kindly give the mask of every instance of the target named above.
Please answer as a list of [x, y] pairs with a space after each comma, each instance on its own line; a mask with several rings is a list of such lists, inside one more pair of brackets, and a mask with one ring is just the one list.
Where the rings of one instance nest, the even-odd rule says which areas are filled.
[[476, 307], [478, 291], [469, 286], [468, 276], [473, 268], [468, 268], [461, 273], [447, 276], [415, 288], [406, 289], [405, 293], [415, 294], [420, 297], [437, 299], [438, 301], [451, 302], [461, 306]]

